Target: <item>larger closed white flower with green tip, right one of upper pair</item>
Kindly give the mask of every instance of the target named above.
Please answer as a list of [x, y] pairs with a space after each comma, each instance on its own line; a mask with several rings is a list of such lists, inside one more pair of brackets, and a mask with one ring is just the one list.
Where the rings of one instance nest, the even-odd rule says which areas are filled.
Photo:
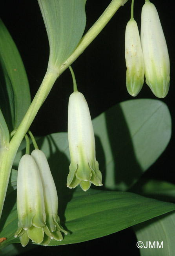
[[170, 59], [159, 15], [149, 1], [142, 7], [141, 45], [146, 83], [155, 96], [164, 98], [170, 85]]

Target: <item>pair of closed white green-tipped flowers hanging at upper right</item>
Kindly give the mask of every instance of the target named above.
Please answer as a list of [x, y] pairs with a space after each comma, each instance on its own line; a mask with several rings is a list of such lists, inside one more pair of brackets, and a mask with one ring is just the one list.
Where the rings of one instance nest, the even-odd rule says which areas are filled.
[[164, 98], [170, 85], [170, 59], [159, 15], [148, 0], [142, 7], [140, 35], [137, 23], [131, 18], [125, 33], [128, 93], [136, 96], [140, 92], [145, 75], [154, 95]]

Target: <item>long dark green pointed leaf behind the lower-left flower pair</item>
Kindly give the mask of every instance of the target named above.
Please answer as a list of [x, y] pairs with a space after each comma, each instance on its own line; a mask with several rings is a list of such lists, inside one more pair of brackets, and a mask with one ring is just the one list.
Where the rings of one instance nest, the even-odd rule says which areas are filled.
[[[54, 171], [61, 173], [62, 169]], [[57, 191], [60, 191], [58, 184]], [[175, 204], [129, 192], [89, 189], [84, 193], [79, 187], [73, 190], [64, 186], [62, 193], [58, 192], [58, 200], [61, 224], [69, 234], [63, 241], [51, 241], [50, 245], [78, 243], [106, 236], [175, 210]], [[6, 202], [0, 221], [0, 237], [7, 237], [7, 240], [1, 244], [1, 249], [10, 243], [19, 242], [18, 238], [14, 239], [18, 223], [16, 191], [6, 197]]]

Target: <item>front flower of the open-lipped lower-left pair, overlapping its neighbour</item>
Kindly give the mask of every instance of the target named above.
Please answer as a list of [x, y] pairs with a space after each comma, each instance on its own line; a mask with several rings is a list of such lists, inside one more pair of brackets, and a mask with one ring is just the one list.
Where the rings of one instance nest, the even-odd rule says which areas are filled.
[[42, 243], [46, 225], [42, 181], [35, 160], [27, 154], [22, 156], [18, 167], [17, 210], [18, 230], [15, 237], [20, 237], [23, 247], [29, 238], [35, 243]]

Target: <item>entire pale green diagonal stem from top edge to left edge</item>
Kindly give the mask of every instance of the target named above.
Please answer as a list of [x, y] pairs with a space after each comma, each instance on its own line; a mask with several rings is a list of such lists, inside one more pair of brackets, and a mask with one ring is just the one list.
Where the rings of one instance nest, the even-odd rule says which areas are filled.
[[26, 115], [24, 116], [22, 122], [20, 123], [18, 129], [13, 135], [9, 148], [0, 148], [0, 217], [2, 214], [2, 208], [5, 201], [5, 195], [7, 191], [7, 186], [9, 182], [9, 176], [13, 161], [20, 146], [20, 143], [24, 136], [26, 135], [31, 123], [33, 122], [38, 110], [42, 106], [44, 100], [46, 100], [53, 84], [58, 78], [58, 74], [62, 74], [77, 58], [82, 54], [82, 52], [88, 47], [88, 45], [97, 37], [97, 35], [106, 26], [109, 20], [113, 17], [115, 12], [120, 6], [123, 6], [128, 0], [112, 0], [106, 10], [102, 13], [100, 18], [95, 22], [95, 24], [88, 30], [88, 32], [82, 37], [76, 50], [71, 54], [67, 61], [62, 65], [60, 70], [47, 69], [46, 75], [40, 85], [35, 98], [33, 99]]

